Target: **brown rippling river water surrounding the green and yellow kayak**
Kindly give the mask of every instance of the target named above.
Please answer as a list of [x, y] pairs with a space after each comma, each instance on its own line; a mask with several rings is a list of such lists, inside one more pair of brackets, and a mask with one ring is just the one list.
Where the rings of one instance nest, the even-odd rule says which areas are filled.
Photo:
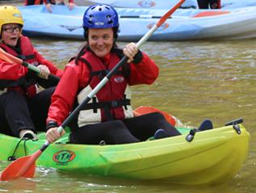
[[[82, 44], [75, 40], [31, 40], [44, 57], [60, 68]], [[132, 106], [157, 107], [195, 126], [205, 118], [216, 127], [243, 118], [251, 134], [250, 151], [237, 175], [220, 185], [187, 187], [37, 168], [36, 178], [0, 182], [0, 192], [256, 192], [256, 40], [147, 42], [141, 50], [156, 61], [161, 72], [153, 85], [132, 87]], [[0, 171], [7, 165], [0, 162]]]

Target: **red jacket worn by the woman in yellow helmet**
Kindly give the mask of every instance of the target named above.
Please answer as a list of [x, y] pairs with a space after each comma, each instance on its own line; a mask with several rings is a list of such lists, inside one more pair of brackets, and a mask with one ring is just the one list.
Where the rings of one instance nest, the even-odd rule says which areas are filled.
[[[51, 73], [57, 75], [58, 77], [61, 77], [61, 75], [63, 74], [62, 70], [57, 69], [57, 67], [55, 67], [52, 62], [45, 60], [44, 57], [42, 57], [40, 53], [37, 52], [36, 49], [32, 46], [31, 41], [26, 36], [20, 36], [18, 44], [20, 48], [20, 53], [16, 52], [14, 48], [10, 48], [3, 43], [0, 44], [0, 47], [15, 57], [23, 58], [24, 61], [27, 61], [32, 65], [46, 65]], [[26, 79], [26, 81], [28, 81], [26, 78], [27, 73], [27, 67], [19, 64], [10, 64], [0, 59], [0, 86], [2, 88], [11, 87], [11, 89], [13, 89], [13, 87], [15, 87], [15, 90], [23, 90], [23, 87], [17, 86], [17, 84], [23, 79]], [[31, 85], [28, 84], [27, 87], [28, 86]], [[26, 93], [28, 90], [23, 91], [24, 93]], [[30, 93], [30, 91], [27, 92], [27, 95], [31, 96], [31, 94], [32, 93]]]

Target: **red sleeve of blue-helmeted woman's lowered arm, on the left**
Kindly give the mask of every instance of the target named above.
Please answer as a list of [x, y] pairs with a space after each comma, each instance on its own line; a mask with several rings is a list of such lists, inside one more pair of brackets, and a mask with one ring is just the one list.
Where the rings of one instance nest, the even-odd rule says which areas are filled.
[[65, 67], [65, 72], [58, 83], [56, 90], [52, 94], [52, 103], [48, 110], [47, 123], [50, 120], [56, 121], [61, 125], [72, 110], [73, 103], [80, 90], [90, 78], [90, 71], [82, 69], [85, 65], [74, 64], [70, 61]]

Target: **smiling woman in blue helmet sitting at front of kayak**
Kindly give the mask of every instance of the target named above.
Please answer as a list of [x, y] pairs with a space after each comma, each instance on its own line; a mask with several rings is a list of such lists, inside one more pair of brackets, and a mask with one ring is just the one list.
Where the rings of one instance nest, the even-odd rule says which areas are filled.
[[154, 135], [180, 135], [158, 112], [133, 116], [129, 86], [152, 84], [158, 76], [158, 67], [134, 43], [127, 44], [123, 49], [117, 48], [115, 41], [119, 20], [115, 9], [106, 4], [90, 6], [83, 16], [83, 27], [86, 44], [78, 56], [66, 65], [65, 73], [52, 95], [47, 140], [53, 142], [61, 136], [57, 127], [72, 111], [75, 101], [82, 103], [124, 56], [129, 58], [128, 63], [110, 78], [73, 121], [70, 142], [124, 144], [145, 141]]

